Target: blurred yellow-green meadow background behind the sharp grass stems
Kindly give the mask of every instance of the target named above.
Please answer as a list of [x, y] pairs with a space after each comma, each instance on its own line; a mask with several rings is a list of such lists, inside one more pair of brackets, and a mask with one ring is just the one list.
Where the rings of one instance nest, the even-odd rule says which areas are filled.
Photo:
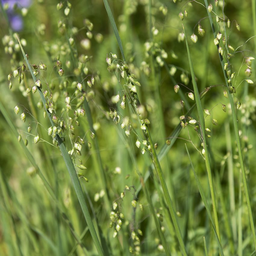
[[[214, 5], [214, 1], [210, 2], [213, 2], [212, 5]], [[217, 8], [214, 5], [214, 10], [220, 16], [222, 15], [221, 2], [219, 1]], [[89, 204], [91, 203], [95, 210], [95, 212], [91, 210], [91, 214], [97, 216], [100, 228], [107, 238], [109, 248], [111, 248], [110, 255], [129, 255], [129, 246], [134, 247], [131, 232], [138, 229], [142, 231], [139, 255], [165, 255], [159, 247], [159, 238], [143, 191], [139, 194], [138, 202], [144, 206], [144, 210], [141, 211], [139, 206], [135, 210], [131, 205], [131, 201], [134, 199], [134, 189], [138, 189], [140, 185], [138, 173], [142, 173], [142, 175], [146, 173], [150, 165], [150, 157], [148, 153], [142, 155], [141, 149], [136, 148], [137, 137], [135, 134], [132, 134], [129, 138], [126, 137], [124, 131], [120, 128], [120, 124], [115, 125], [108, 115], [109, 110], [115, 108], [115, 105], [111, 102], [111, 97], [121, 92], [121, 89], [114, 73], [108, 72], [105, 59], [110, 52], [116, 53], [119, 59], [121, 59], [121, 54], [103, 1], [70, 1], [72, 8], [68, 16], [64, 14], [66, 1], [63, 2], [64, 8], [59, 11], [56, 9], [58, 3], [58, 1], [47, 0], [31, 1], [27, 7], [27, 15], [23, 17], [20, 15], [22, 6], [22, 1], [20, 1], [17, 9], [9, 14], [9, 18], [11, 20], [14, 14], [18, 14], [23, 20], [23, 28], [17, 33], [20, 38], [27, 41], [24, 50], [29, 54], [30, 63], [39, 64], [39, 62], [42, 62], [47, 65], [47, 71], [42, 71], [42, 76], [52, 89], [56, 99], [55, 108], [57, 111], [61, 111], [64, 105], [65, 92], [72, 93], [74, 91], [72, 82], [77, 81], [73, 66], [71, 65], [69, 68], [66, 64], [66, 61], [72, 61], [67, 39], [74, 32], [73, 38], [77, 55], [83, 54], [90, 57], [90, 61], [85, 66], [88, 68], [89, 74], [94, 74], [96, 79], [92, 89], [88, 90], [93, 95], [89, 101], [89, 106], [92, 112], [94, 129], [97, 132], [99, 152], [111, 199], [111, 204], [106, 205], [104, 199], [99, 196], [102, 195], [103, 187], [99, 181], [98, 171], [95, 170], [98, 168], [97, 150], [94, 147], [91, 149], [87, 146], [83, 147], [80, 158], [87, 169], [80, 171], [83, 172], [89, 182], [86, 183], [85, 180], [80, 179], [80, 183]], [[202, 99], [202, 104], [204, 109], [211, 111], [211, 116], [206, 117], [206, 127], [211, 130], [211, 133], [209, 133], [211, 138], [208, 139], [208, 143], [217, 194], [222, 244], [225, 255], [231, 255], [229, 245], [230, 239], [232, 239], [237, 251], [238, 233], [236, 229], [239, 223], [242, 223], [243, 255], [252, 255], [253, 243], [247, 206], [243, 196], [243, 187], [241, 186], [240, 167], [229, 100], [223, 96], [223, 73], [216, 46], [213, 42], [214, 37], [207, 12], [202, 4], [204, 4], [203, 1], [198, 1], [198, 3], [191, 1], [190, 4], [186, 1], [177, 1], [175, 4], [173, 1], [152, 1], [151, 15], [149, 15], [148, 0], [109, 1], [122, 39], [126, 61], [132, 73], [137, 76], [137, 80], [141, 83], [141, 87], [137, 88], [137, 93], [142, 104], [146, 106], [148, 119], [151, 122], [149, 129], [152, 139], [154, 143], [158, 143], [157, 152], [166, 144], [170, 134], [180, 125], [180, 116], [186, 113], [186, 108], [183, 110], [180, 105], [181, 94], [176, 94], [173, 90], [176, 83], [186, 83], [184, 76], [188, 78], [188, 83], [186, 86], [180, 84], [180, 92], [183, 92], [190, 106], [194, 104], [194, 101], [188, 97], [188, 92], [193, 89], [193, 86], [186, 45], [184, 41], [178, 42], [178, 35], [182, 32], [182, 23], [189, 36], [193, 31], [198, 34], [197, 24], [200, 21], [202, 28], [205, 30], [205, 35], [204, 37], [198, 36], [198, 42], [195, 44], [189, 39], [189, 46], [195, 75], [198, 79], [199, 91], [202, 92], [206, 87], [211, 86], [211, 90]], [[181, 10], [184, 11], [184, 6], [188, 12], [188, 17], [184, 17], [184, 20], [181, 21], [178, 14]], [[161, 11], [162, 7], [167, 8], [166, 15]], [[249, 0], [227, 0], [225, 1], [224, 11], [225, 15], [231, 20], [231, 27], [227, 31], [229, 44], [236, 49], [254, 36], [252, 3]], [[214, 14], [213, 18], [215, 19]], [[87, 49], [81, 44], [83, 39], [88, 38], [86, 32], [89, 30], [86, 29], [85, 19], [89, 19], [93, 23], [93, 36], [90, 39], [90, 47]], [[63, 32], [63, 26], [59, 23], [60, 20], [65, 23], [66, 32]], [[154, 26], [158, 30], [158, 34], [152, 38], [150, 20], [152, 27]], [[233, 20], [240, 24], [240, 31], [236, 30], [235, 21]], [[8, 23], [4, 15], [0, 13], [1, 39], [9, 33]], [[102, 41], [99, 33], [102, 36]], [[148, 41], [157, 43], [156, 48], [164, 49], [167, 53], [167, 58], [163, 59], [164, 65], [162, 67], [157, 62], [157, 52], [152, 59], [145, 52], [145, 42]], [[243, 61], [244, 57], [255, 57], [255, 42], [255, 38], [250, 39], [239, 48], [241, 52], [236, 53], [230, 60], [232, 72], [236, 72], [236, 87], [241, 83], [236, 89], [236, 94], [234, 94], [234, 101], [239, 100], [241, 102], [237, 115], [254, 219], [256, 217], [254, 171], [256, 167], [254, 150], [256, 146], [256, 98], [254, 95], [256, 91], [254, 84], [248, 85], [243, 81], [248, 79], [244, 73], [246, 66]], [[3, 111], [6, 111], [22, 139], [27, 136], [23, 131], [27, 130], [27, 125], [30, 122], [33, 134], [36, 135], [36, 130], [37, 133], [40, 133], [42, 139], [52, 143], [47, 135], [50, 124], [43, 117], [42, 105], [37, 104], [40, 102], [39, 95], [30, 94], [28, 96], [25, 92], [26, 88], [33, 82], [29, 72], [25, 72], [25, 78], [21, 84], [16, 79], [11, 90], [8, 88], [8, 74], [23, 63], [20, 50], [15, 53], [16, 61], [12, 61], [12, 54], [5, 52], [5, 45], [2, 40], [0, 45], [0, 102], [2, 105], [2, 114], [0, 114], [0, 255], [97, 255], [89, 232], [81, 239], [84, 247], [75, 246], [76, 240], [70, 232], [67, 222], [64, 221], [41, 179], [36, 175], [36, 170], [28, 160], [24, 149], [19, 145], [23, 142], [17, 141], [17, 135], [12, 132], [7, 123]], [[74, 53], [76, 55], [75, 50]], [[61, 80], [58, 74], [55, 73], [56, 68], [54, 69], [54, 63], [57, 59], [62, 61], [65, 71]], [[143, 61], [146, 62], [148, 67], [143, 66]], [[154, 73], [152, 65], [154, 66]], [[171, 67], [177, 69], [173, 75], [170, 75]], [[251, 67], [252, 75], [249, 79], [256, 81], [253, 61]], [[147, 71], [149, 72], [147, 73]], [[81, 71], [81, 75], [83, 78], [86, 77], [83, 71]], [[41, 78], [41, 80], [43, 79]], [[13, 108], [17, 104], [24, 106], [32, 114], [32, 116], [27, 115], [25, 124], [19, 116], [14, 114]], [[226, 105], [226, 113], [222, 111], [221, 104]], [[125, 115], [128, 115], [128, 111]], [[190, 115], [198, 120], [196, 110], [191, 112]], [[34, 118], [42, 124], [39, 125], [41, 128], [36, 128], [37, 125], [33, 122], [35, 121]], [[217, 126], [212, 124], [213, 118], [217, 119]], [[131, 115], [131, 120], [134, 127], [137, 128], [136, 118]], [[86, 140], [93, 145], [89, 130], [89, 123], [84, 117], [80, 121], [80, 126], [76, 127], [76, 135], [86, 136]], [[192, 126], [183, 129], [178, 137], [161, 161], [161, 166], [177, 211], [187, 250], [189, 255], [203, 255], [203, 236], [205, 236], [209, 255], [217, 255], [217, 243], [213, 242], [214, 232], [201, 201], [185, 148], [186, 143], [201, 184], [210, 200], [205, 163], [200, 154], [202, 150], [201, 142]], [[56, 198], [64, 203], [67, 218], [72, 222], [77, 234], [80, 235], [86, 229], [86, 223], [60, 151], [46, 142], [35, 145], [32, 136], [28, 136], [27, 139], [29, 141], [28, 150], [48, 180]], [[169, 139], [170, 141], [173, 140], [173, 138]], [[67, 145], [67, 147], [70, 147], [70, 145]], [[230, 150], [233, 152], [229, 164], [233, 166], [236, 203], [235, 213], [232, 214], [228, 176]], [[78, 164], [78, 162], [76, 163]], [[120, 169], [117, 167], [120, 167]], [[120, 173], [119, 170], [121, 170]], [[151, 176], [148, 179], [148, 190], [155, 212], [164, 216], [161, 226], [167, 229], [166, 219], [168, 216], [164, 214], [161, 196], [158, 195], [155, 189], [155, 183], [158, 183], [154, 180], [155, 178], [156, 175], [154, 178]], [[118, 199], [118, 208], [124, 214], [124, 219], [121, 231], [116, 238], [113, 238], [114, 228], [109, 227], [110, 209], [112, 209], [112, 202], [120, 197], [120, 193], [124, 191], [125, 186], [133, 186], [133, 188], [130, 189], [130, 192], [126, 191], [123, 200]], [[211, 204], [210, 201], [209, 204]], [[239, 211], [241, 211], [241, 215], [239, 215]], [[235, 219], [232, 216], [235, 216]], [[239, 219], [238, 216], [242, 216], [242, 218]], [[233, 223], [233, 220], [237, 220], [237, 218], [241, 222]], [[230, 235], [229, 231], [233, 233]], [[181, 255], [175, 234], [169, 233], [167, 230], [164, 234], [167, 242], [172, 245], [172, 255]]]

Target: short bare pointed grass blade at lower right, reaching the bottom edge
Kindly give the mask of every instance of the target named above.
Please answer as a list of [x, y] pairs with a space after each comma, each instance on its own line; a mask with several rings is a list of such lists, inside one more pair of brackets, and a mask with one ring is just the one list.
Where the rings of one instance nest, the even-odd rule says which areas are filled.
[[199, 181], [199, 178], [198, 178], [198, 176], [197, 176], [197, 173], [195, 172], [195, 168], [194, 168], [194, 166], [193, 166], [193, 164], [192, 164], [192, 161], [191, 161], [191, 158], [190, 158], [190, 155], [189, 155], [189, 151], [188, 151], [187, 145], [185, 144], [185, 146], [186, 146], [186, 150], [187, 150], [187, 153], [188, 153], [188, 156], [189, 156], [189, 161], [190, 161], [190, 163], [191, 163], [191, 167], [192, 167], [192, 170], [193, 170], [193, 173], [194, 173], [194, 176], [195, 176], [196, 184], [197, 184], [197, 186], [198, 186], [198, 189], [199, 189], [201, 198], [202, 198], [202, 200], [203, 200], [203, 202], [204, 202], [205, 209], [206, 209], [206, 211], [207, 211], [207, 214], [208, 214], [208, 216], [209, 216], [209, 219], [211, 220], [211, 224], [212, 224], [213, 229], [214, 229], [214, 234], [215, 234], [215, 236], [216, 236], [216, 240], [217, 240], [217, 243], [218, 243], [220, 255], [221, 255], [221, 256], [224, 256], [223, 250], [222, 250], [222, 247], [221, 247], [221, 244], [220, 244], [220, 240], [219, 240], [219, 238], [218, 238], [217, 230], [216, 230], [215, 225], [214, 225], [214, 220], [213, 220], [213, 218], [211, 217], [211, 211], [210, 211], [210, 208], [209, 208], [209, 205], [208, 205], [208, 202], [207, 202], [206, 195], [204, 194], [204, 190], [203, 190], [203, 188], [202, 188], [202, 186], [201, 186], [201, 183], [200, 183], [200, 181]]

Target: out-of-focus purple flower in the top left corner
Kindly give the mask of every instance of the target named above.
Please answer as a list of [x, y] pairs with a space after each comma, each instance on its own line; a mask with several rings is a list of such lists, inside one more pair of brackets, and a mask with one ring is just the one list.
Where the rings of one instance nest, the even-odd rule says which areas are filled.
[[11, 28], [15, 31], [20, 31], [23, 28], [22, 17], [15, 13], [14, 5], [17, 5], [17, 8], [27, 8], [31, 4], [31, 0], [1, 0], [2, 4], [8, 3], [7, 15], [10, 21]]

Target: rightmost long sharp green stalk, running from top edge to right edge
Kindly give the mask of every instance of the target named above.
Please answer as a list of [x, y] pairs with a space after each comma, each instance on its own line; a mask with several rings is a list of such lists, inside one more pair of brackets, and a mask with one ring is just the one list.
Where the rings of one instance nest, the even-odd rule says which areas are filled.
[[[214, 27], [214, 24], [213, 24], [213, 21], [212, 21], [211, 14], [209, 13], [208, 8], [207, 8], [208, 7], [208, 1], [204, 0], [204, 3], [205, 3], [205, 7], [207, 9], [207, 12], [208, 12], [211, 28], [212, 28], [212, 31], [213, 31], [213, 34], [214, 34], [214, 38], [216, 38], [215, 27]], [[225, 30], [225, 37], [226, 37], [225, 26], [224, 26], [224, 30]], [[218, 45], [217, 45], [217, 47], [218, 47]], [[227, 52], [228, 52], [228, 50], [227, 50]], [[224, 79], [225, 79], [226, 86], [227, 86], [228, 97], [229, 97], [229, 101], [230, 101], [230, 105], [231, 105], [232, 119], [233, 119], [234, 131], [235, 131], [235, 136], [236, 136], [236, 144], [237, 144], [237, 148], [238, 148], [239, 162], [240, 162], [240, 166], [241, 166], [242, 179], [243, 179], [243, 184], [244, 184], [244, 189], [245, 189], [246, 204], [247, 204], [247, 208], [248, 208], [249, 221], [250, 221], [250, 226], [251, 226], [252, 238], [253, 238], [253, 242], [254, 242], [254, 248], [256, 250], [256, 233], [255, 233], [255, 229], [254, 229], [254, 221], [253, 221], [253, 217], [252, 217], [251, 203], [250, 203], [248, 185], [247, 185], [247, 180], [246, 180], [245, 164], [244, 164], [244, 160], [243, 160], [242, 146], [241, 146], [241, 141], [240, 141], [240, 136], [239, 136], [238, 122], [237, 122], [237, 116], [236, 116], [236, 108], [235, 108], [235, 105], [234, 105], [233, 95], [230, 93], [230, 91], [228, 89], [229, 88], [228, 78], [227, 78], [227, 75], [226, 75], [226, 72], [225, 72], [225, 69], [224, 69], [224, 61], [223, 61], [223, 58], [222, 58], [221, 54], [219, 54], [219, 57], [220, 57], [220, 63], [221, 63], [221, 67], [222, 67], [222, 70], [223, 70], [223, 75], [224, 75]]]

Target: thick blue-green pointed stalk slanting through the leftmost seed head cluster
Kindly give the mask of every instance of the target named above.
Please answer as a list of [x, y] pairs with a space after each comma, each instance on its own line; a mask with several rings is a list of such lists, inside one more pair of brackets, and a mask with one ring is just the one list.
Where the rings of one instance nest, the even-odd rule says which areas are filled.
[[[20, 44], [20, 48], [21, 48], [23, 57], [24, 57], [24, 59], [25, 59], [25, 61], [26, 61], [26, 63], [27, 63], [27, 66], [28, 66], [28, 68], [29, 68], [29, 70], [30, 70], [30, 73], [31, 73], [31, 75], [32, 75], [32, 77], [33, 77], [33, 80], [34, 80], [34, 82], [36, 82], [36, 77], [35, 77], [34, 74], [33, 74], [33, 70], [32, 70], [32, 68], [31, 68], [31, 66], [30, 66], [30, 63], [29, 63], [27, 57], [26, 57], [26, 54], [25, 54], [25, 52], [24, 52], [24, 50], [23, 50], [23, 47], [22, 47], [22, 45], [21, 45], [21, 43], [20, 43], [20, 40], [19, 40], [18, 37], [17, 37], [17, 39], [18, 39], [18, 42], [19, 42], [19, 44]], [[46, 111], [47, 114], [48, 114], [49, 120], [50, 120], [52, 126], [55, 126], [55, 124], [54, 124], [54, 122], [53, 122], [53, 120], [52, 120], [51, 113], [50, 113], [50, 112], [47, 110], [47, 108], [45, 107], [46, 101], [45, 101], [44, 95], [43, 95], [43, 93], [42, 93], [40, 87], [38, 87], [38, 91], [39, 91], [40, 97], [41, 97], [41, 99], [42, 99], [42, 102], [43, 102], [45, 111]], [[88, 207], [87, 207], [87, 204], [86, 204], [86, 201], [85, 201], [85, 198], [84, 198], [84, 195], [83, 195], [83, 191], [82, 191], [82, 188], [81, 188], [79, 179], [78, 179], [78, 177], [77, 177], [77, 173], [76, 173], [75, 167], [74, 167], [74, 165], [73, 165], [73, 162], [72, 162], [72, 160], [71, 160], [71, 158], [70, 158], [70, 155], [69, 155], [68, 152], [67, 152], [67, 149], [66, 149], [66, 147], [65, 147], [65, 145], [64, 145], [64, 143], [63, 143], [61, 137], [60, 137], [58, 134], [56, 135], [56, 139], [57, 139], [57, 142], [58, 142], [58, 144], [59, 144], [59, 148], [60, 148], [60, 150], [61, 150], [61, 154], [62, 154], [62, 157], [63, 157], [64, 162], [65, 162], [65, 164], [66, 164], [66, 167], [67, 167], [67, 170], [68, 170], [68, 172], [69, 172], [70, 178], [71, 178], [71, 180], [72, 180], [73, 187], [74, 187], [74, 189], [75, 189], [75, 191], [76, 191], [76, 195], [77, 195], [78, 201], [79, 201], [79, 203], [80, 203], [80, 206], [81, 206], [81, 208], [82, 208], [82, 211], [83, 211], [83, 214], [84, 214], [86, 223], [87, 223], [88, 228], [89, 228], [89, 231], [90, 231], [90, 233], [91, 233], [91, 235], [92, 235], [92, 239], [93, 239], [93, 242], [94, 242], [94, 244], [95, 244], [95, 247], [96, 247], [96, 249], [97, 249], [97, 251], [98, 251], [98, 254], [99, 254], [100, 256], [103, 256], [104, 253], [103, 253], [103, 250], [102, 250], [102, 248], [101, 248], [101, 244], [100, 244], [100, 242], [99, 242], [99, 239], [98, 239], [97, 233], [96, 233], [96, 231], [95, 231], [95, 228], [94, 228], [94, 226], [93, 226], [92, 218], [91, 218], [91, 216], [90, 216], [89, 209], [88, 209]]]

